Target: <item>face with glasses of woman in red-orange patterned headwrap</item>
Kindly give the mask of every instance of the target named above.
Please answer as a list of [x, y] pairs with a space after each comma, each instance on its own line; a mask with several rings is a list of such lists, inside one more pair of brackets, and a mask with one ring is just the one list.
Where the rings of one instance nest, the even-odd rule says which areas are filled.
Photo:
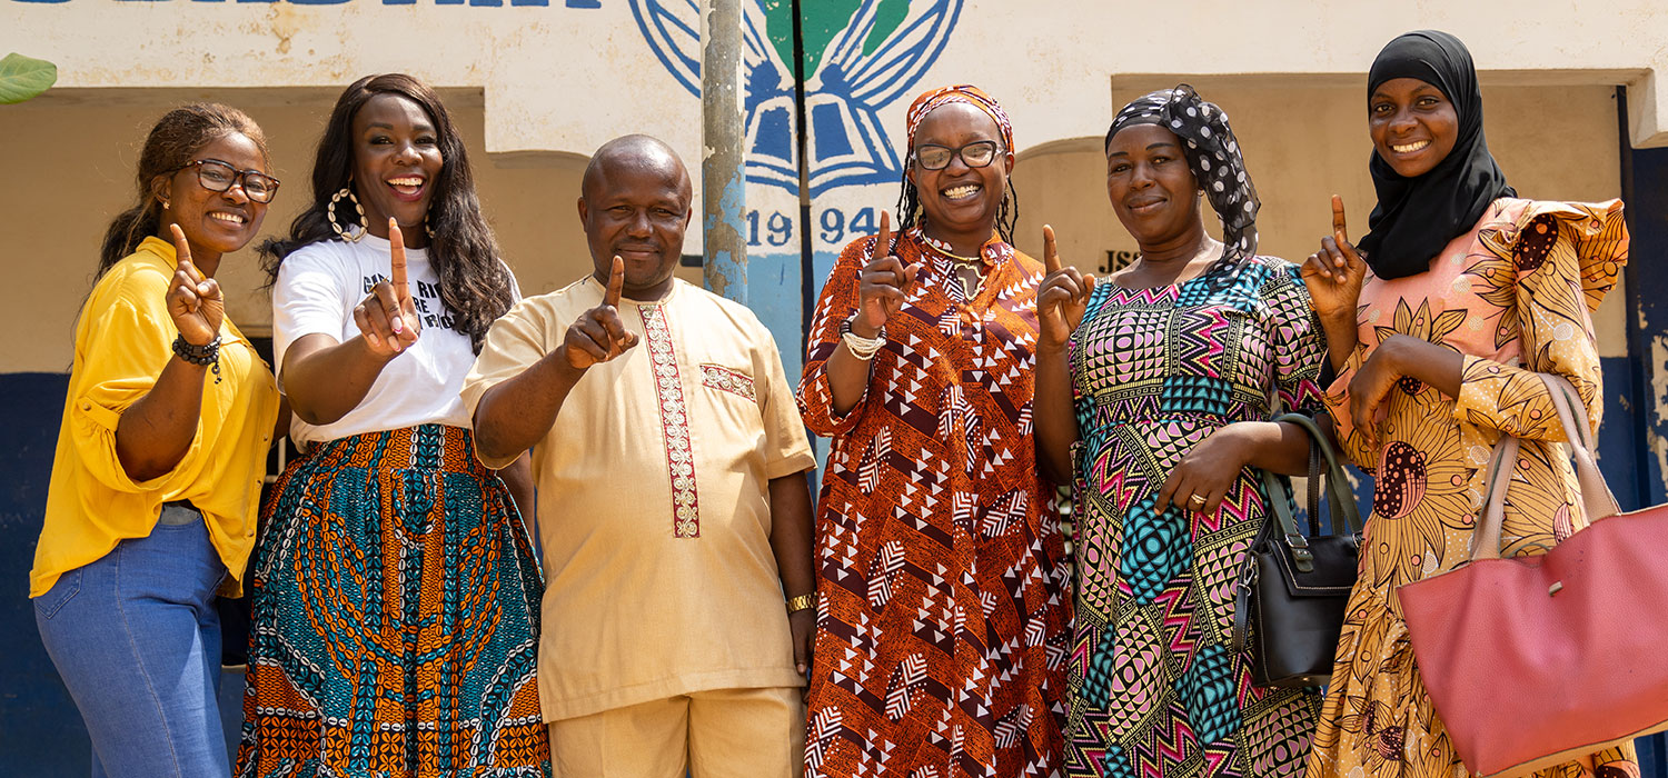
[[937, 237], [966, 237], [984, 243], [996, 228], [996, 213], [1007, 193], [1007, 173], [1014, 170], [1011, 148], [1002, 148], [1002, 132], [996, 120], [967, 103], [947, 103], [932, 108], [916, 128], [916, 148], [937, 145], [961, 148], [976, 142], [996, 142], [996, 160], [982, 168], [971, 168], [952, 155], [944, 170], [926, 170], [914, 162], [909, 180], [921, 197], [927, 215], [927, 230]]

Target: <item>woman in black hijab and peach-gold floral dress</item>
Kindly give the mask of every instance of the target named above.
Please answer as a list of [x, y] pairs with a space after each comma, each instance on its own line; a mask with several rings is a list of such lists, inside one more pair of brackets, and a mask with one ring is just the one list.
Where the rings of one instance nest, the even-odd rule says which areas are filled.
[[[1378, 190], [1359, 253], [1334, 235], [1304, 265], [1338, 380], [1326, 405], [1376, 478], [1361, 578], [1338, 645], [1308, 776], [1463, 776], [1419, 676], [1394, 591], [1468, 560], [1483, 466], [1523, 440], [1503, 555], [1586, 526], [1563, 428], [1536, 373], [1563, 375], [1598, 428], [1591, 312], [1628, 260], [1621, 202], [1520, 200], [1488, 153], [1471, 55], [1441, 32], [1379, 52], [1368, 77]], [[1633, 748], [1543, 776], [1636, 776]]]

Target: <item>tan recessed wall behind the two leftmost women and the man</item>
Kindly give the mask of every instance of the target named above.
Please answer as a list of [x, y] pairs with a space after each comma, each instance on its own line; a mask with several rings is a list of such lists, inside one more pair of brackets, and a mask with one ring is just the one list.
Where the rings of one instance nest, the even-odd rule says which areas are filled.
[[[138, 152], [157, 117], [192, 100], [220, 100], [254, 117], [284, 182], [262, 233], [282, 235], [312, 193], [312, 158], [334, 98], [325, 90], [65, 90], [0, 107], [0, 182], [7, 182], [0, 225], [10, 238], [0, 260], [10, 297], [0, 308], [0, 332], [10, 333], [0, 347], [0, 372], [68, 370], [73, 322], [103, 230], [132, 198]], [[469, 143], [487, 220], [522, 290], [547, 292], [589, 272], [574, 207], [585, 160], [499, 165], [482, 147], [480, 95], [460, 90], [445, 100]], [[699, 243], [689, 250], [699, 253]], [[684, 275], [699, 283], [699, 270]], [[232, 320], [250, 335], [267, 333], [272, 307], [254, 248], [229, 257], [220, 282]]]

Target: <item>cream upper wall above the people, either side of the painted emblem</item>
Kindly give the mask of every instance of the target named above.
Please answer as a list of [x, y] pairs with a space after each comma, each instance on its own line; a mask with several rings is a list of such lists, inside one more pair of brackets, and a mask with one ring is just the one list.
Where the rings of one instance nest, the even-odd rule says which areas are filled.
[[[484, 137], [494, 152], [584, 152], [615, 135], [620, 123], [692, 152], [699, 125], [661, 110], [662, 98], [681, 87], [651, 55], [632, 5], [8, 0], [0, 5], [0, 50], [53, 58], [63, 67], [63, 87], [72, 88], [138, 80], [330, 87], [369, 72], [412, 70], [437, 85], [482, 88]], [[757, 17], [756, 3], [749, 5]], [[1108, 73], [1349, 77], [1364, 72], [1393, 35], [1426, 27], [1460, 35], [1485, 78], [1626, 83], [1636, 95], [1633, 140], [1668, 145], [1668, 77], [1660, 75], [1668, 73], [1668, 3], [1661, 0], [964, 0], [927, 83], [986, 85], [1032, 128], [1031, 140], [1021, 138], [1029, 147], [1093, 133], [1106, 108], [1098, 95]]]

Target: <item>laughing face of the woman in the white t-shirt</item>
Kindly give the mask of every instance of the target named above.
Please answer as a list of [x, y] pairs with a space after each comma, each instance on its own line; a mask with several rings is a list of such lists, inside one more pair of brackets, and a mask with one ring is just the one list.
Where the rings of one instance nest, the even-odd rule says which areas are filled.
[[444, 162], [422, 105], [394, 93], [367, 100], [354, 115], [354, 193], [370, 233], [385, 238], [394, 217], [405, 245], [427, 245], [422, 225]]

